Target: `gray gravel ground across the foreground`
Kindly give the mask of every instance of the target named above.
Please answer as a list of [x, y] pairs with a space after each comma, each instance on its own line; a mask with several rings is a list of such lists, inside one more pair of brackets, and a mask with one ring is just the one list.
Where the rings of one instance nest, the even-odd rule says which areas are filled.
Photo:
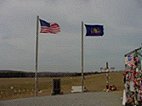
[[88, 92], [0, 101], [0, 106], [122, 106], [121, 92]]

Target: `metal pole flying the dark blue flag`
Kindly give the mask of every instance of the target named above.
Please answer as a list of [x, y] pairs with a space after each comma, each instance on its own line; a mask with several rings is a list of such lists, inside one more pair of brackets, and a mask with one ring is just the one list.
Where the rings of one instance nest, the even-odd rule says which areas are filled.
[[81, 84], [82, 92], [84, 92], [84, 34], [83, 34], [83, 21], [81, 22]]

